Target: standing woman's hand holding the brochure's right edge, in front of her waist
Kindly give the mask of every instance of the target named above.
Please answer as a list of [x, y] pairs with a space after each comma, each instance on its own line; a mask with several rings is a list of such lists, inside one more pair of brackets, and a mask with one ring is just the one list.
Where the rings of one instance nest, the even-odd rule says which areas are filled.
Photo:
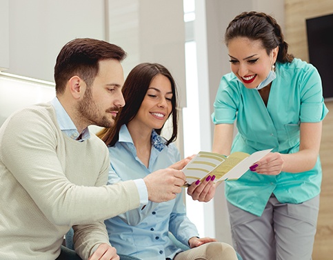
[[252, 172], [265, 175], [278, 175], [282, 171], [284, 160], [279, 152], [270, 152], [250, 167]]

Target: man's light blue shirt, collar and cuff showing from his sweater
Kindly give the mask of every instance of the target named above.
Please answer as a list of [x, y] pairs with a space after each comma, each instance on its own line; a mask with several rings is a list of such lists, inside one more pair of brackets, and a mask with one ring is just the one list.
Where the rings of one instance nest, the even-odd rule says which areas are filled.
[[[72, 119], [66, 112], [65, 108], [59, 102], [57, 97], [54, 97], [51, 101], [52, 106], [54, 107], [54, 111], [57, 115], [57, 122], [59, 124], [60, 130], [68, 135], [68, 137], [75, 139], [77, 141], [85, 141], [90, 138], [89, 128], [85, 128], [81, 135], [77, 130], [77, 127], [74, 125]], [[80, 137], [78, 139], [78, 137]], [[137, 185], [140, 197], [141, 207], [148, 203], [148, 191], [145, 186], [145, 181], [143, 179], [136, 179], [134, 183]]]

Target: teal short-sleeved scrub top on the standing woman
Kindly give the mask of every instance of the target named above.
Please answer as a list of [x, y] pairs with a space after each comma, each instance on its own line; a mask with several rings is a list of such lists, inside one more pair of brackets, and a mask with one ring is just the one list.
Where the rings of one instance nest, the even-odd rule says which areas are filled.
[[[270, 148], [281, 154], [298, 152], [300, 123], [319, 122], [327, 114], [321, 78], [314, 66], [294, 59], [276, 62], [275, 72], [267, 106], [258, 90], [245, 88], [232, 72], [222, 77], [212, 121], [234, 123], [237, 119], [231, 152], [252, 154]], [[225, 197], [234, 206], [261, 216], [272, 193], [281, 203], [302, 203], [316, 197], [321, 176], [319, 157], [307, 172], [270, 176], [248, 170], [240, 179], [225, 182]]]

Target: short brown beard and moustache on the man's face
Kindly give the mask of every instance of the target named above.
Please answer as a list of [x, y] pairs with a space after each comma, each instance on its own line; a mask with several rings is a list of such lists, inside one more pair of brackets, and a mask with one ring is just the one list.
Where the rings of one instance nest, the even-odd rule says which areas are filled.
[[[79, 102], [78, 111], [80, 119], [86, 121], [88, 125], [95, 125], [103, 128], [114, 126], [114, 120], [110, 120], [105, 115], [101, 115], [101, 111], [96, 105], [96, 102], [92, 99], [91, 88], [85, 90], [83, 99]], [[105, 113], [108, 113], [108, 111], [119, 111], [119, 108], [108, 108]]]

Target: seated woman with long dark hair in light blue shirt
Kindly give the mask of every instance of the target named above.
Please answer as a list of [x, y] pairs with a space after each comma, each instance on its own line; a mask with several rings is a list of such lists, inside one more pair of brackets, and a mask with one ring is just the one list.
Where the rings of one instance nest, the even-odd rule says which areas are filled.
[[[139, 64], [128, 74], [123, 96], [126, 105], [114, 128], [99, 134], [109, 146], [109, 184], [140, 179], [169, 166], [179, 168], [180, 154], [172, 143], [177, 134], [176, 85], [170, 72], [157, 63]], [[166, 140], [160, 134], [170, 116], [172, 136]], [[105, 224], [110, 243], [119, 254], [145, 260], [237, 259], [228, 244], [198, 238], [196, 227], [186, 217], [182, 193], [163, 203], [149, 201]], [[169, 232], [191, 249], [181, 252]]]

